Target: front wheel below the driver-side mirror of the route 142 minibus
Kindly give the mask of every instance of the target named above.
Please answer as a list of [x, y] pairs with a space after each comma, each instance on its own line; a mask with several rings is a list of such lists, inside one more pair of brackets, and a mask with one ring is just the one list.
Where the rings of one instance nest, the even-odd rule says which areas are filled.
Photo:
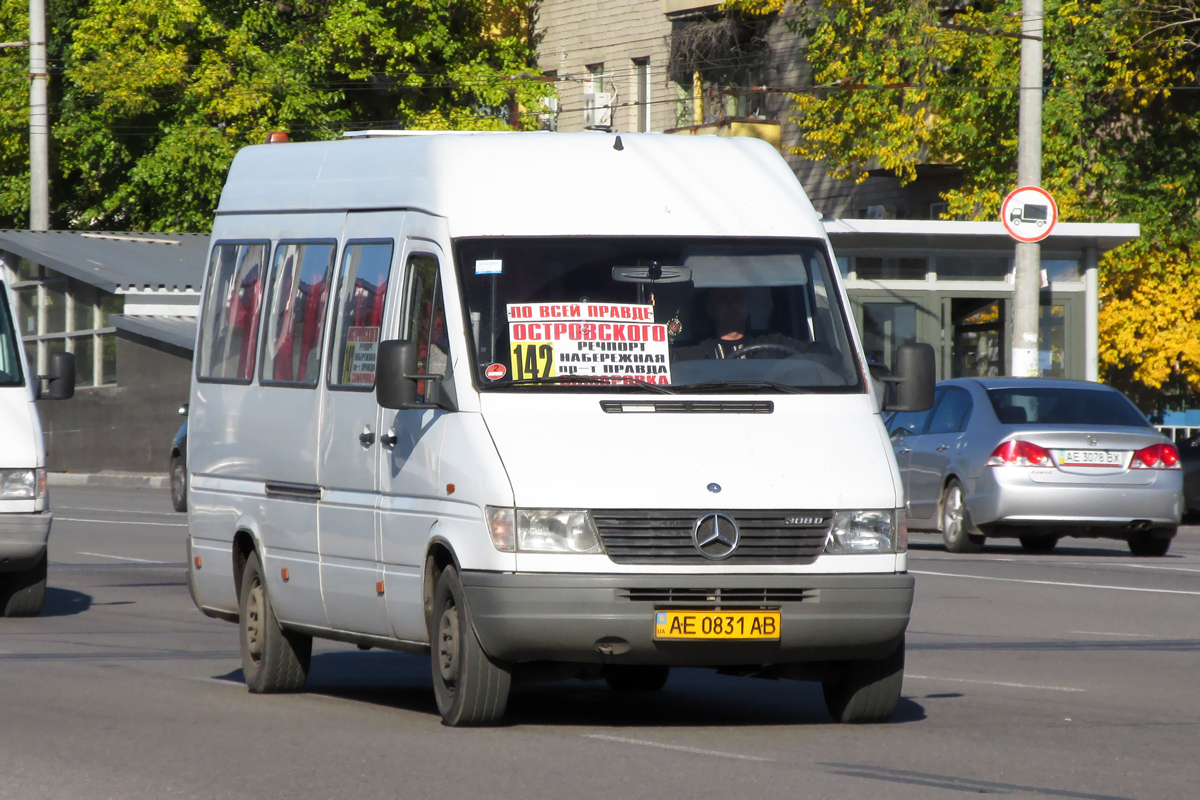
[[433, 593], [430, 645], [433, 694], [443, 722], [455, 727], [498, 723], [509, 703], [512, 668], [484, 652], [452, 566], [442, 572]]

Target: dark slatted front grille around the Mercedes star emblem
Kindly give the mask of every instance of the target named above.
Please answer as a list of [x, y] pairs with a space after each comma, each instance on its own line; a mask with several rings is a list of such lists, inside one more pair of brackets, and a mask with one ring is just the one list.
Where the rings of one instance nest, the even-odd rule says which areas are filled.
[[[600, 541], [617, 564], [713, 564], [692, 527], [709, 511], [593, 511]], [[824, 548], [832, 511], [721, 511], [738, 524], [738, 547], [721, 564], [811, 564]]]

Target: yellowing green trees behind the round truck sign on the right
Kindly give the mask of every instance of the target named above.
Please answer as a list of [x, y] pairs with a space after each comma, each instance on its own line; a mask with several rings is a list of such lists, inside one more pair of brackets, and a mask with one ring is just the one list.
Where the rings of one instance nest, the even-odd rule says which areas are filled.
[[[1139, 222], [1142, 240], [1102, 261], [1105, 378], [1160, 404], [1171, 375], [1200, 389], [1195, 306], [1128, 317], [1134, 296], [1200, 278], [1200, 59], [1193, 0], [1045, 0], [1043, 186], [1070, 221]], [[1016, 180], [1020, 0], [730, 0], [743, 13], [788, 10], [812, 86], [796, 92], [796, 152], [835, 178], [954, 164], [952, 218], [994, 219]], [[1180, 89], [1184, 90], [1181, 91]], [[1158, 265], [1151, 269], [1150, 265]], [[1168, 266], [1169, 265], [1169, 266]], [[1120, 335], [1118, 335], [1120, 333]], [[1169, 343], [1170, 342], [1170, 343]], [[1170, 365], [1168, 368], [1166, 365]]]

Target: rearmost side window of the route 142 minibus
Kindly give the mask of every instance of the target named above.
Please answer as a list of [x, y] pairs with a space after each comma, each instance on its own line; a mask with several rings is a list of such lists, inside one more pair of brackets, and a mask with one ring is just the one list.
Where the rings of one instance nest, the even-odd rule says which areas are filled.
[[239, 383], [253, 378], [265, 265], [265, 243], [222, 243], [212, 248], [197, 377]]

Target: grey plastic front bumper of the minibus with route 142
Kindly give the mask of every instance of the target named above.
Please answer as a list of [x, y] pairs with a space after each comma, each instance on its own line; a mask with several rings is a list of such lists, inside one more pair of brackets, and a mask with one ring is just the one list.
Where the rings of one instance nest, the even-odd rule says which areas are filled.
[[[886, 575], [530, 575], [463, 572], [484, 649], [503, 661], [758, 666], [881, 658], [895, 649], [914, 579]], [[721, 593], [752, 602], [709, 600]], [[696, 595], [700, 595], [697, 599]], [[688, 600], [680, 600], [688, 597]], [[797, 599], [800, 597], [800, 599]], [[778, 642], [662, 642], [654, 612], [722, 608], [781, 612]]]

